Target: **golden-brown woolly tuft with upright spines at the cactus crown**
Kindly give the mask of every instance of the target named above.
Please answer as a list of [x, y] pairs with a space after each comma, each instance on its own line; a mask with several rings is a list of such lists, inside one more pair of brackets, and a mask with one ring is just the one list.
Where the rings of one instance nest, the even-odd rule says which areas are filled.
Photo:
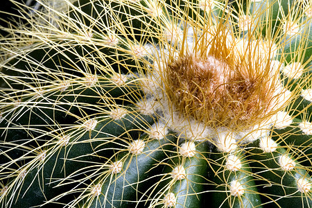
[[279, 86], [271, 80], [279, 80], [279, 69], [272, 69], [270, 53], [263, 55], [262, 44], [263, 40], [238, 42], [210, 28], [193, 51], [167, 64], [166, 82], [171, 87], [166, 91], [177, 110], [211, 127], [236, 130], [276, 113], [283, 105], [275, 101]]

